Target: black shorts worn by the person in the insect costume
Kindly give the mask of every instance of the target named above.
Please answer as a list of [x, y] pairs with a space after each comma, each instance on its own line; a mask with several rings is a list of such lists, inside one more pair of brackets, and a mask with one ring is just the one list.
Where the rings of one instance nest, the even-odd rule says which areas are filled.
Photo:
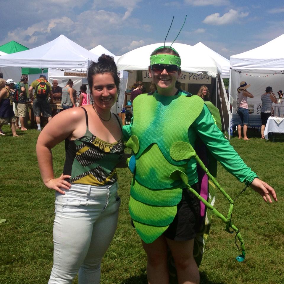
[[[191, 187], [199, 193], [198, 183], [191, 185]], [[200, 200], [187, 188], [184, 188], [177, 214], [163, 235], [173, 241], [188, 241], [195, 238], [199, 216]]]

